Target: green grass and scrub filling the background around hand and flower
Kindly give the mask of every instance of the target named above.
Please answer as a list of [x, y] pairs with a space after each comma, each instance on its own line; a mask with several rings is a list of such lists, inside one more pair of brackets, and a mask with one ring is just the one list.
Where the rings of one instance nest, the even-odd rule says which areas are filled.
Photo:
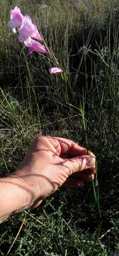
[[[66, 73], [50, 75], [47, 55], [26, 49], [8, 30], [15, 5], [32, 16], [47, 46]], [[116, 256], [118, 211], [118, 1], [5, 1], [0, 3], [0, 166], [1, 176], [16, 170], [38, 134], [66, 137], [86, 146], [78, 108], [84, 105], [88, 146], [98, 160], [103, 219], [94, 255]], [[73, 107], [74, 106], [74, 107]], [[5, 256], [91, 256], [98, 233], [98, 210], [91, 184], [61, 188], [41, 206], [11, 216], [0, 227]]]

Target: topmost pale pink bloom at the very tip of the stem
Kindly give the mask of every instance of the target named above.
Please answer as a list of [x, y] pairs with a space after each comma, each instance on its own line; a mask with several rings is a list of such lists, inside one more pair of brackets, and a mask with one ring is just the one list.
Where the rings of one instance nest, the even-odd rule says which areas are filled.
[[23, 23], [23, 14], [21, 14], [21, 9], [17, 6], [10, 11], [10, 14], [11, 20], [8, 22], [8, 28], [10, 28], [13, 33], [16, 33], [16, 28], [21, 27]]

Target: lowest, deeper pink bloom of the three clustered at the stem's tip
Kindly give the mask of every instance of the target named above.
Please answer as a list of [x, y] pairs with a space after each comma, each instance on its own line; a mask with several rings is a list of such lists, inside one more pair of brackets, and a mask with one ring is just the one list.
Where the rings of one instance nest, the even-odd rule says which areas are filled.
[[39, 53], [48, 53], [45, 49], [45, 46], [43, 46], [41, 43], [38, 43], [38, 41], [35, 41], [31, 38], [28, 38], [27, 41], [24, 42], [25, 46], [28, 47], [28, 54], [32, 53], [33, 51], [39, 52]]

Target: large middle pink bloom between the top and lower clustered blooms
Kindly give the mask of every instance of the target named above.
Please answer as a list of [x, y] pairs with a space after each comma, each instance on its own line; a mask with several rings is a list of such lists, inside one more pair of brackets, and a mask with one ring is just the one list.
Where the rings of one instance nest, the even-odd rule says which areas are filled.
[[32, 20], [28, 15], [24, 16], [22, 26], [21, 28], [18, 28], [18, 32], [19, 32], [18, 41], [20, 41], [21, 43], [23, 43], [24, 41], [27, 41], [29, 37], [42, 41], [42, 37], [38, 32], [37, 26], [35, 26], [32, 23]]

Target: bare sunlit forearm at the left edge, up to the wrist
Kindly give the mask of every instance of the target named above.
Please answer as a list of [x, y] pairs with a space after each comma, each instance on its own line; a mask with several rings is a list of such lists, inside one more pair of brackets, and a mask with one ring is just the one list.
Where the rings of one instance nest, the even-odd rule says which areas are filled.
[[0, 178], [0, 223], [12, 213], [29, 208], [33, 202], [34, 195], [22, 178]]

